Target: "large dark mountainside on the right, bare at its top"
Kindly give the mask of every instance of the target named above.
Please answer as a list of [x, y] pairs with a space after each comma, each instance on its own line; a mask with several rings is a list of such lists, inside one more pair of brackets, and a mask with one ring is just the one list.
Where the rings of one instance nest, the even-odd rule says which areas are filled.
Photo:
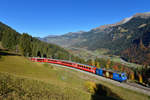
[[[57, 36], [57, 38], [46, 37], [44, 40], [47, 42], [53, 40], [56, 44], [69, 48], [77, 47], [92, 51], [105, 49], [106, 54], [120, 55], [130, 62], [150, 64], [148, 61], [144, 62], [144, 57], [149, 55], [149, 25], [150, 13], [138, 13], [118, 23], [100, 26], [82, 34], [65, 34]], [[132, 50], [129, 49], [139, 47], [140, 40], [148, 51], [141, 50], [140, 53], [132, 54]], [[61, 41], [61, 44], [59, 41]], [[127, 55], [126, 51], [128, 51], [128, 56], [125, 56]], [[136, 57], [138, 54], [140, 54], [140, 57]], [[139, 58], [142, 60], [139, 60]], [[146, 60], [149, 60], [149, 57], [146, 57]]]

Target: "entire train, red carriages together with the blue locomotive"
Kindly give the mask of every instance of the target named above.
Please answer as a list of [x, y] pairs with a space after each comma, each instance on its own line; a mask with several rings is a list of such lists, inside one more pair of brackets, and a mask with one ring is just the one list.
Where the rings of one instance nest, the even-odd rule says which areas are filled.
[[30, 58], [34, 62], [46, 62], [46, 63], [53, 63], [53, 64], [59, 64], [64, 66], [69, 66], [72, 68], [81, 69], [87, 72], [94, 73], [99, 76], [107, 77], [119, 82], [123, 82], [127, 80], [127, 76], [125, 73], [116, 72], [112, 70], [106, 70], [105, 68], [96, 68], [95, 66], [90, 65], [84, 65], [80, 63], [75, 63], [71, 61], [65, 61], [65, 60], [58, 60], [58, 59], [49, 59], [49, 58]]

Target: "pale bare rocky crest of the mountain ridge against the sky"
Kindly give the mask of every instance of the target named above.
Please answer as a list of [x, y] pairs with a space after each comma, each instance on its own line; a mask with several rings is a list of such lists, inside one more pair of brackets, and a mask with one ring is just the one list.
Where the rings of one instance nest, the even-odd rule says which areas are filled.
[[[130, 21], [131, 19], [133, 19], [133, 18], [136, 18], [136, 17], [140, 17], [140, 18], [144, 18], [144, 19], [146, 19], [146, 18], [149, 18], [150, 17], [150, 12], [145, 12], [145, 13], [136, 13], [136, 14], [134, 14], [133, 16], [130, 16], [130, 17], [127, 17], [127, 18], [124, 18], [123, 20], [121, 20], [121, 21], [119, 21], [119, 22], [116, 22], [116, 23], [114, 23], [114, 24], [106, 24], [106, 25], [101, 25], [101, 26], [99, 26], [99, 27], [96, 27], [96, 28], [93, 28], [93, 29], [91, 29], [91, 30], [89, 30], [89, 31], [87, 31], [87, 32], [94, 32], [94, 33], [98, 33], [98, 32], [101, 32], [101, 31], [105, 31], [105, 30], [107, 30], [108, 28], [112, 28], [112, 27], [115, 27], [115, 26], [119, 26], [119, 25], [122, 25], [122, 24], [125, 24], [125, 23], [127, 23], [128, 21]], [[69, 39], [69, 36], [70, 36], [70, 38], [72, 39], [72, 37], [80, 37], [80, 35], [82, 35], [82, 33], [87, 33], [86, 31], [78, 31], [78, 32], [68, 32], [68, 33], [66, 33], [66, 34], [63, 34], [63, 35], [57, 35], [57, 36], [46, 36], [46, 37], [44, 37], [43, 39], [44, 39], [44, 41], [46, 41], [46, 42], [49, 42], [49, 43], [55, 43], [55, 44], [57, 44], [57, 45], [61, 45], [61, 46], [65, 46], [66, 44], [63, 42], [63, 41], [58, 41], [57, 42], [57, 39], [61, 39], [61, 37], [66, 37], [66, 39], [68, 39], [69, 41], [70, 41], [70, 39]], [[110, 32], [110, 31], [109, 31]], [[106, 32], [107, 33], [107, 32]], [[50, 40], [50, 39], [48, 39], [48, 38], [50, 38], [50, 39], [52, 39], [52, 40]], [[54, 39], [54, 38], [56, 38], [56, 39]], [[53, 42], [54, 41], [54, 42]], [[69, 42], [68, 41], [68, 42]], [[61, 43], [60, 43], [61, 42]], [[71, 46], [72, 44], [70, 44], [69, 46]], [[67, 47], [67, 46], [65, 46], [65, 47]]]

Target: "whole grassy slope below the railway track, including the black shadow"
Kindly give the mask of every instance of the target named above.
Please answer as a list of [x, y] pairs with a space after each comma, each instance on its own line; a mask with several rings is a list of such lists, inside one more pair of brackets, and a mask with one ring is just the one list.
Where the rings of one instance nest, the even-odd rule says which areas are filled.
[[[114, 86], [110, 83], [92, 80], [92, 77], [77, 71], [49, 64], [33, 63], [22, 56], [4, 54], [0, 58], [0, 99], [149, 99], [146, 95], [137, 94], [136, 92]], [[87, 85], [87, 81], [97, 83], [96, 88], [95, 85], [94, 87], [91, 87], [89, 83]], [[96, 91], [89, 91], [92, 88]]]

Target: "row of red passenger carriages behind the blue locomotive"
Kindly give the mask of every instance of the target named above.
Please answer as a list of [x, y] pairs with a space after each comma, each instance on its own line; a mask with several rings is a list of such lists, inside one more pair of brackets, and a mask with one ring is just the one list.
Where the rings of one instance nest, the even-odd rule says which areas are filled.
[[30, 58], [30, 59], [34, 62], [47, 62], [47, 63], [59, 64], [59, 65], [81, 69], [81, 70], [88, 71], [91, 73], [96, 72], [96, 67], [94, 66], [79, 64], [79, 63], [65, 61], [65, 60], [49, 59], [49, 58]]

